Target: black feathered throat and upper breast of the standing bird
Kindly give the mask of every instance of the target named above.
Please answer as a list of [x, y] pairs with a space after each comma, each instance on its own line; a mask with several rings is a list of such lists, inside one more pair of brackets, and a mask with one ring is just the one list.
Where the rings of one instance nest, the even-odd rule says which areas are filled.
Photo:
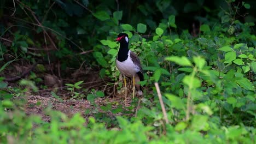
[[129, 43], [127, 43], [125, 40], [120, 41], [120, 48], [119, 48], [118, 57], [117, 57], [119, 62], [124, 62], [128, 58], [128, 52], [129, 52], [128, 45]]

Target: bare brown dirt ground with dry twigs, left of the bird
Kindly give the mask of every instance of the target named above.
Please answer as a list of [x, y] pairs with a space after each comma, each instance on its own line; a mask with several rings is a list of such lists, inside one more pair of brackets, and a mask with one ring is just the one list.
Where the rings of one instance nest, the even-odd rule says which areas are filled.
[[[90, 68], [80, 68], [78, 70], [67, 68], [65, 76], [60, 77], [50, 73], [50, 69], [52, 68], [50, 68], [49, 65], [43, 66], [45, 69], [43, 72], [42, 65], [37, 64], [36, 67], [31, 69], [32, 67], [32, 64], [21, 65], [20, 63], [13, 63], [0, 75], [11, 80], [13, 77], [19, 77], [20, 75], [27, 73], [20, 78], [30, 81], [36, 81], [38, 78], [41, 79], [41, 81], [36, 83], [36, 86], [38, 87], [37, 92], [32, 92], [31, 89], [28, 89], [29, 91], [25, 94], [27, 95], [27, 104], [25, 106], [27, 115], [39, 115], [44, 121], [49, 122], [50, 117], [45, 115], [44, 110], [47, 107], [51, 107], [51, 109], [61, 111], [67, 116], [72, 116], [77, 112], [81, 113], [84, 117], [92, 116], [90, 113], [85, 115], [86, 110], [90, 111], [96, 108], [95, 105], [86, 100], [86, 95], [91, 92], [91, 89], [102, 91], [105, 94], [105, 97], [95, 99], [98, 112], [106, 113], [110, 117], [123, 115], [123, 113], [120, 112], [113, 114], [110, 111], [106, 112], [100, 109], [100, 106], [106, 106], [107, 104], [111, 104], [112, 109], [115, 109], [118, 106], [120, 107], [120, 105], [125, 107], [125, 98], [124, 89], [122, 89], [122, 91], [120, 91], [120, 89], [117, 91], [118, 82], [111, 81], [107, 78], [102, 79], [102, 77], [98, 75], [98, 71], [94, 71]], [[58, 74], [57, 71], [54, 72], [55, 74]], [[83, 93], [85, 97], [83, 99], [73, 99], [70, 92], [67, 91], [65, 83], [75, 83], [82, 80], [84, 82], [81, 87], [83, 89], [88, 89], [88, 92], [77, 91]], [[11, 80], [7, 81], [7, 83], [10, 87], [21, 87], [19, 85], [19, 80]], [[55, 92], [59, 98], [53, 97], [51, 92]], [[129, 93], [129, 97], [127, 97], [127, 106], [130, 106], [132, 101], [130, 94], [131, 93]], [[134, 113], [125, 115], [135, 115], [136, 107], [132, 111], [134, 111]]]

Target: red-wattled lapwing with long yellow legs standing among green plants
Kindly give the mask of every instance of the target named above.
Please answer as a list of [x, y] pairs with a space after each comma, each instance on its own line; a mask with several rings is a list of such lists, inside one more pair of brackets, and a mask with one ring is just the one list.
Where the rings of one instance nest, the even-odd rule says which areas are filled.
[[[130, 77], [132, 79], [133, 83], [133, 93], [132, 98], [134, 98], [135, 95], [135, 88], [138, 91], [139, 95], [142, 95], [142, 88], [138, 84], [139, 81], [143, 81], [143, 70], [141, 67], [141, 62], [139, 61], [138, 56], [129, 50], [129, 38], [126, 33], [120, 33], [118, 34], [118, 38], [116, 41], [119, 41], [120, 48], [118, 51], [118, 56], [115, 61], [117, 64], [118, 70], [121, 72], [121, 74]], [[126, 87], [126, 79], [124, 76], [124, 83], [125, 83], [125, 106], [127, 101], [127, 87]]]

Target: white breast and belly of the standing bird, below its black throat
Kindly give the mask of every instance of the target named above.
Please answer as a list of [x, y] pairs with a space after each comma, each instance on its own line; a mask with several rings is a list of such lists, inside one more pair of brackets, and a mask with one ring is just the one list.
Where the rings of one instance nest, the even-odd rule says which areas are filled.
[[139, 71], [139, 67], [133, 64], [132, 59], [130, 57], [130, 50], [128, 54], [128, 58], [124, 62], [116, 61], [118, 70], [124, 74], [125, 76], [132, 77]]

